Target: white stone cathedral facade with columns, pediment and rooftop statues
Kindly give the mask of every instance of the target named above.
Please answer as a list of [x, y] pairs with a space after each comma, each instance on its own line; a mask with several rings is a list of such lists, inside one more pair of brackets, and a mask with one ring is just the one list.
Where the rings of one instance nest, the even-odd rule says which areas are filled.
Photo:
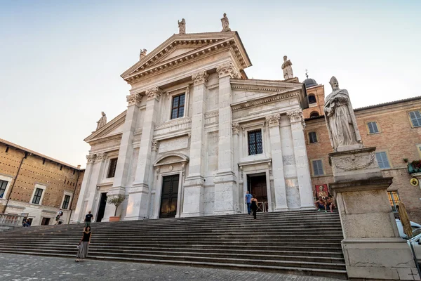
[[[180, 22], [179, 22], [180, 24]], [[289, 60], [288, 60], [289, 62]], [[109, 221], [314, 208], [296, 78], [248, 79], [237, 32], [174, 34], [121, 77], [127, 110], [98, 123], [73, 222], [92, 211]], [[123, 98], [123, 97], [122, 97]]]

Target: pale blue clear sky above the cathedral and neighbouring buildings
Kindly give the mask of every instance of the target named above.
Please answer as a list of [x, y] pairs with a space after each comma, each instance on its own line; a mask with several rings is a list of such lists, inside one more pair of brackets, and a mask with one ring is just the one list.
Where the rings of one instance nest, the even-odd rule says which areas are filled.
[[0, 0], [0, 138], [86, 166], [105, 111], [126, 109], [120, 74], [178, 33], [222, 29], [227, 13], [252, 67], [283, 79], [338, 78], [354, 107], [421, 96], [421, 1], [4, 1]]

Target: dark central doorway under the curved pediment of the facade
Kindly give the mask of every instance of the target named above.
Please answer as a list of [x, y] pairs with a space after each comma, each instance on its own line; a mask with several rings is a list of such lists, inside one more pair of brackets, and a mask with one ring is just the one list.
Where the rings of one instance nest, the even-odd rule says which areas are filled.
[[162, 178], [160, 218], [175, 218], [177, 214], [178, 181], [180, 175]]

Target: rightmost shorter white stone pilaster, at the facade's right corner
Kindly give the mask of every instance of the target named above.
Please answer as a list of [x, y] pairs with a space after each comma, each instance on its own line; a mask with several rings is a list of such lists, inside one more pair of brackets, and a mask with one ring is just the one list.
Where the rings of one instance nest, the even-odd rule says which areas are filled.
[[310, 176], [309, 160], [305, 147], [304, 117], [302, 110], [287, 112], [290, 117], [291, 133], [293, 136], [295, 166], [297, 169], [298, 186], [300, 188], [300, 202], [302, 209], [314, 209], [312, 195], [312, 178]]

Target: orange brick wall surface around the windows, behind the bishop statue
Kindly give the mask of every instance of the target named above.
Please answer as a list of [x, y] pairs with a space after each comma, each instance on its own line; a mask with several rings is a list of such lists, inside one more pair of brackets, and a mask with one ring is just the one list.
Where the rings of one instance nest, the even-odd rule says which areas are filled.
[[[417, 146], [421, 143], [421, 128], [412, 128], [408, 112], [421, 109], [421, 98], [408, 102], [366, 107], [355, 110], [361, 138], [366, 146], [376, 147], [376, 151], [385, 151], [389, 159], [390, 169], [383, 169], [383, 176], [392, 176], [393, 183], [388, 191], [397, 190], [401, 201], [406, 204], [406, 209], [411, 221], [421, 223], [420, 198], [421, 190], [410, 185], [411, 176], [408, 174], [409, 161], [420, 159]], [[380, 133], [369, 134], [366, 124], [377, 122]], [[312, 185], [328, 184], [333, 182], [332, 169], [328, 163], [328, 153], [332, 152], [328, 131], [324, 117], [306, 119], [307, 155], [312, 172]], [[309, 143], [309, 132], [316, 132], [317, 143]], [[312, 160], [321, 159], [323, 162], [323, 176], [314, 176]]]

